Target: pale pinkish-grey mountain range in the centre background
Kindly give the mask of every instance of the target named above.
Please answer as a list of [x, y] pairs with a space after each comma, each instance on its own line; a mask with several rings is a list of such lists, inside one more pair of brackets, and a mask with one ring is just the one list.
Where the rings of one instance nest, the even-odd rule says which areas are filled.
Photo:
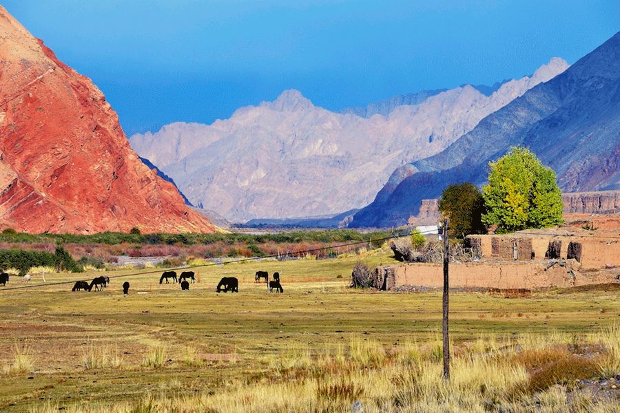
[[174, 123], [130, 143], [192, 204], [228, 220], [331, 215], [369, 204], [395, 168], [442, 151], [567, 66], [552, 59], [491, 96], [457, 87], [370, 118], [329, 112], [289, 90], [227, 120]]

